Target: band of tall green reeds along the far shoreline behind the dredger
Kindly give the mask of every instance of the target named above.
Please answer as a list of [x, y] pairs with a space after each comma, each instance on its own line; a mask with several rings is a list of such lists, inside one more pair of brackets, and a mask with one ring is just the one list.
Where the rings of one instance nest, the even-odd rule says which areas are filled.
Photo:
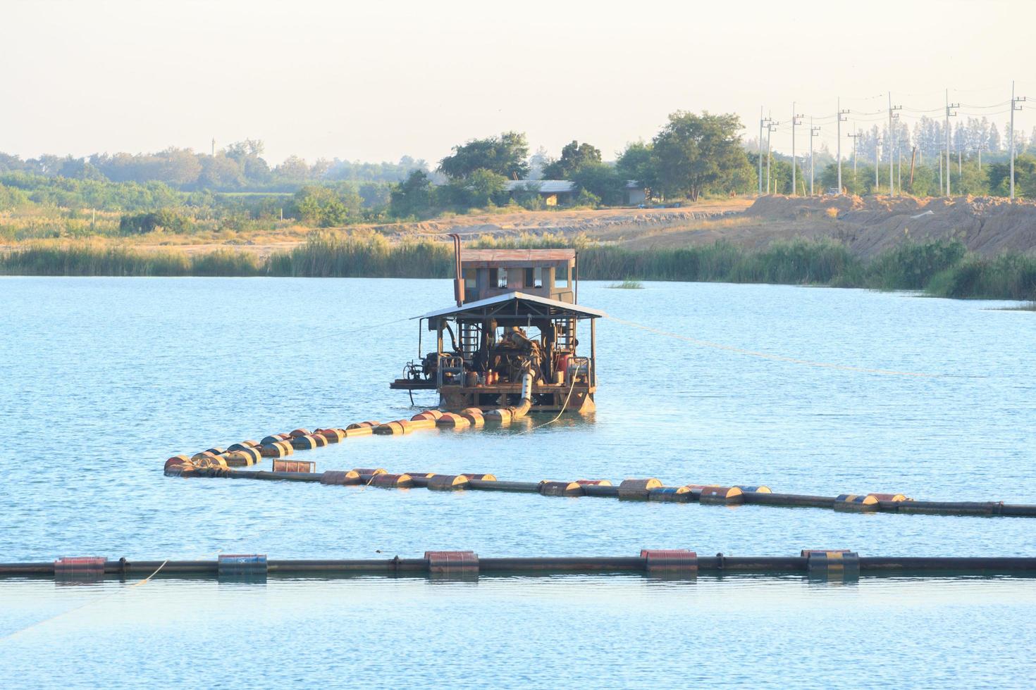
[[[870, 261], [832, 240], [794, 239], [762, 249], [729, 242], [632, 250], [531, 237], [476, 246], [576, 246], [583, 279], [693, 280], [918, 290], [955, 298], [1036, 300], [1036, 257], [982, 258], [959, 241], [903, 242]], [[305, 245], [266, 259], [244, 251], [137, 251], [91, 242], [33, 243], [0, 254], [0, 273], [21, 275], [225, 275], [450, 277], [453, 249], [429, 239], [393, 243], [376, 233], [314, 233]]]

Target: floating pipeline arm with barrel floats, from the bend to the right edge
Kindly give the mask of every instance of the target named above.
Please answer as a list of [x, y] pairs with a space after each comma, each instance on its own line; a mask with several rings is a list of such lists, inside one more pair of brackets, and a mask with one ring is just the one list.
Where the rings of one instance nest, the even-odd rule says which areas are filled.
[[719, 486], [684, 484], [664, 486], [659, 479], [626, 479], [617, 486], [606, 479], [575, 481], [542, 480], [536, 482], [501, 481], [495, 475], [461, 473], [445, 475], [431, 472], [390, 474], [383, 469], [327, 470], [314, 472], [312, 463], [299, 466], [276, 462], [274, 472], [265, 470], [233, 470], [219, 464], [219, 457], [203, 457], [198, 462], [183, 463], [182, 455], [166, 460], [165, 474], [180, 477], [225, 477], [230, 479], [262, 479], [314, 482], [325, 485], [377, 486], [381, 488], [428, 488], [430, 490], [505, 491], [539, 493], [547, 497], [617, 498], [620, 501], [665, 503], [700, 503], [719, 506], [779, 506], [784, 508], [827, 508], [839, 512], [887, 512], [928, 515], [980, 515], [1002, 517], [1036, 517], [1034, 505], [1010, 505], [1000, 501], [916, 501], [901, 493], [842, 493], [837, 497], [774, 493], [769, 486]]

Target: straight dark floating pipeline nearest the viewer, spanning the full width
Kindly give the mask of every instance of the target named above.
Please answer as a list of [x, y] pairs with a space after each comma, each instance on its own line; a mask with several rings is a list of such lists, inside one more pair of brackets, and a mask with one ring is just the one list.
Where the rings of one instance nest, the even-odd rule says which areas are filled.
[[356, 575], [429, 576], [466, 579], [479, 575], [641, 573], [693, 578], [699, 574], [804, 574], [844, 581], [860, 576], [958, 575], [1036, 576], [1036, 558], [861, 557], [848, 549], [803, 549], [797, 557], [698, 556], [690, 549], [642, 549], [636, 557], [480, 558], [474, 551], [425, 551], [422, 559], [274, 561], [264, 553], [224, 553], [215, 561], [112, 561], [104, 557], [61, 558], [42, 563], [0, 564], [0, 578], [53, 577], [57, 581], [100, 581], [108, 576], [217, 577], [264, 580], [268, 575], [320, 578]]

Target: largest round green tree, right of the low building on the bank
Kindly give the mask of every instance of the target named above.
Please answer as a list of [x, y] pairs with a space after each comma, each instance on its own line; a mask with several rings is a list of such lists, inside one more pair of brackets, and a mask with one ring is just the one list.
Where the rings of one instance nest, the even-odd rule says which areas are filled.
[[741, 146], [741, 119], [678, 111], [654, 140], [661, 190], [697, 201], [710, 186], [748, 166]]

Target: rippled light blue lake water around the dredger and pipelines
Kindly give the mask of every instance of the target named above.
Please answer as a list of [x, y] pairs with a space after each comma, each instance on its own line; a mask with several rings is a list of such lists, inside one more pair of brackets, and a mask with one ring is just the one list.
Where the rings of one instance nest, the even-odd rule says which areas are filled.
[[[0, 279], [0, 562], [220, 551], [414, 558], [426, 549], [635, 556], [641, 547], [1036, 556], [1036, 521], [1026, 519], [163, 476], [176, 453], [297, 426], [409, 417], [406, 393], [387, 382], [418, 355], [418, 324], [368, 327], [445, 306], [450, 296], [441, 280]], [[710, 283], [624, 291], [584, 282], [580, 301], [723, 346], [934, 376], [766, 359], [603, 321], [591, 419], [530, 433], [519, 424], [349, 439], [292, 457], [316, 460], [318, 471], [654, 476], [1036, 503], [1032, 312]], [[427, 392], [415, 399], [419, 408], [435, 402]], [[1033, 680], [1026, 650], [1036, 640], [1034, 592], [1036, 580], [967, 578], [840, 587], [630, 576], [134, 588], [7, 580], [0, 681], [68, 685], [75, 670], [84, 685], [210, 687], [248, 678], [259, 686], [545, 687], [786, 684], [819, 671], [834, 686], [879, 677], [1024, 686]]]

